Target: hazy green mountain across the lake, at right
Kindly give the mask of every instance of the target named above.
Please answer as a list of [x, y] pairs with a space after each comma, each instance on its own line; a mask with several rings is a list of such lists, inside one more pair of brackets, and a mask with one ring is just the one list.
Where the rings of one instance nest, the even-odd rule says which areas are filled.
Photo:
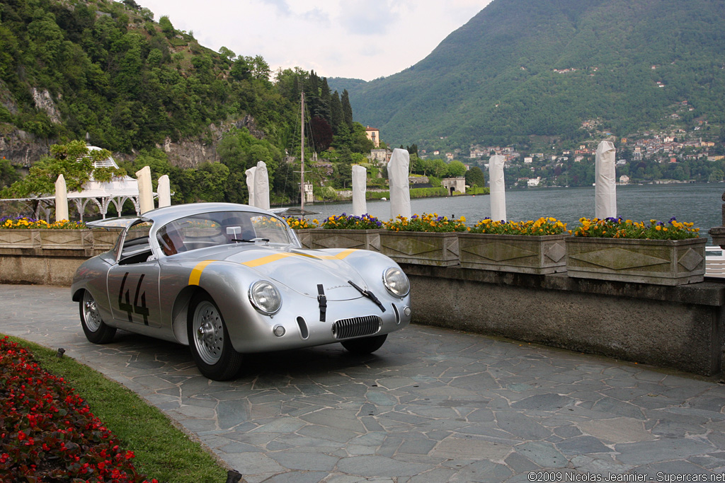
[[349, 91], [387, 143], [577, 139], [597, 119], [616, 135], [725, 121], [722, 0], [494, 0], [425, 59]]

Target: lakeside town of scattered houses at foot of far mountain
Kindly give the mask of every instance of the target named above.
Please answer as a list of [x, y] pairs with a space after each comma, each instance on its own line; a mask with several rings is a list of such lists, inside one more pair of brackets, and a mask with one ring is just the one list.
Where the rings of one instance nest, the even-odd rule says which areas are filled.
[[[670, 118], [681, 119], [682, 110], [690, 112], [692, 107], [684, 101]], [[423, 159], [442, 157], [449, 163], [460, 160], [467, 169], [475, 166], [487, 169], [489, 157], [500, 154], [505, 157], [509, 188], [585, 186], [594, 182], [597, 143], [606, 139], [617, 148], [617, 181], [622, 185], [718, 182], [725, 178], [725, 141], [721, 128], [704, 119], [693, 120], [689, 129], [671, 126], [621, 138], [603, 129], [601, 124], [596, 119], [582, 122], [581, 129], [589, 139], [576, 143], [573, 148], [554, 145], [545, 150], [542, 142], [534, 149], [472, 145], [468, 153], [461, 149], [434, 149], [421, 150], [420, 156]]]

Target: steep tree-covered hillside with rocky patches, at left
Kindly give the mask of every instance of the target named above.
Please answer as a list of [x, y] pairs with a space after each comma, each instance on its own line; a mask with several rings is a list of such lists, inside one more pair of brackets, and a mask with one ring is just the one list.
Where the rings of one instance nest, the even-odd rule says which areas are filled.
[[[131, 174], [141, 163], [170, 174], [177, 201], [246, 201], [244, 170], [260, 160], [273, 199], [289, 201], [299, 161], [294, 168], [285, 156], [299, 156], [302, 91], [310, 151], [327, 151], [343, 173], [369, 151], [347, 92], [331, 91], [325, 78], [270, 72], [262, 56], [211, 51], [167, 17], [153, 19], [134, 0], [0, 3], [0, 187], [15, 179], [9, 163], [28, 166], [51, 144], [87, 139], [128, 159]], [[174, 143], [196, 146], [199, 169], [174, 165]]]

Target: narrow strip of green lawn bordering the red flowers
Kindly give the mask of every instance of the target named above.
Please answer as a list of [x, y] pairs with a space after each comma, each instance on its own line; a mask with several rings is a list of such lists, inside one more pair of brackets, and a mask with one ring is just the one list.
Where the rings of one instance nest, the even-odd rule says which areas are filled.
[[[4, 335], [0, 334], [0, 338]], [[70, 357], [9, 337], [33, 353], [43, 369], [65, 379], [86, 400], [91, 412], [104, 422], [125, 450], [136, 454], [133, 465], [149, 480], [162, 483], [225, 482], [227, 470], [216, 458], [176, 428], [159, 409], [149, 406], [136, 393], [113, 382]]]

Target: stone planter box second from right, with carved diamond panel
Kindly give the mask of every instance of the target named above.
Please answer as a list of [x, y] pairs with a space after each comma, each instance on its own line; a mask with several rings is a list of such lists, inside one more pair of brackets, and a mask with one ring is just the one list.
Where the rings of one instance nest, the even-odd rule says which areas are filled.
[[460, 266], [528, 274], [566, 272], [566, 243], [562, 235], [489, 235], [458, 233]]

